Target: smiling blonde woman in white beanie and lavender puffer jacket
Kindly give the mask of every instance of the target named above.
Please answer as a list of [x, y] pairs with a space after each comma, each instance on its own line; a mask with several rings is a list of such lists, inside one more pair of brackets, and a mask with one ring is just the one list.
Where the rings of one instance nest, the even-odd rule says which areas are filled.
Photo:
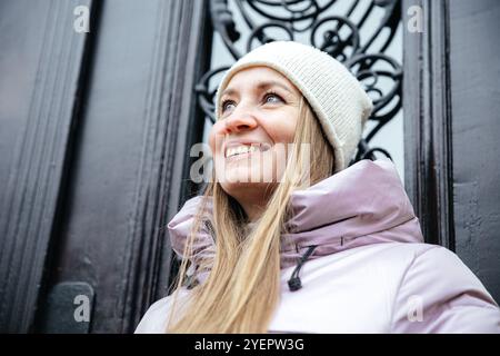
[[214, 180], [170, 221], [177, 288], [137, 333], [500, 332], [478, 278], [423, 244], [393, 165], [348, 167], [372, 102], [341, 63], [271, 42], [216, 102]]

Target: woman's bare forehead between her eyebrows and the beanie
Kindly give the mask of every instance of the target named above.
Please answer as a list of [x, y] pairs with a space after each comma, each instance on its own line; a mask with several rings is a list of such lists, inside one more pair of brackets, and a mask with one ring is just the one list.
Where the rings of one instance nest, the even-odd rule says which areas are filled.
[[277, 82], [287, 87], [291, 92], [299, 92], [296, 86], [277, 70], [269, 67], [250, 67], [231, 77], [222, 95], [238, 89], [257, 87], [262, 82]]

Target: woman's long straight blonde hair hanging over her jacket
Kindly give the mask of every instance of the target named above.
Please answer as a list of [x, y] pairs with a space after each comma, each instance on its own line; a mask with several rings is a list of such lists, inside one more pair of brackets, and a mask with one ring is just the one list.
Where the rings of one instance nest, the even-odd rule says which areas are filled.
[[[310, 150], [302, 148], [310, 144]], [[290, 216], [289, 198], [294, 189], [304, 189], [333, 172], [333, 149], [319, 121], [302, 97], [289, 160], [283, 177], [257, 225], [246, 229], [239, 204], [211, 182], [204, 192], [189, 234], [177, 278], [167, 333], [267, 333], [280, 301], [280, 247], [284, 221]], [[307, 157], [309, 156], [310, 157]], [[194, 235], [203, 221], [209, 197], [213, 199], [213, 260], [202, 261], [197, 270], [209, 270], [207, 280], [189, 291], [183, 313], [172, 323], [178, 291], [183, 285]]]

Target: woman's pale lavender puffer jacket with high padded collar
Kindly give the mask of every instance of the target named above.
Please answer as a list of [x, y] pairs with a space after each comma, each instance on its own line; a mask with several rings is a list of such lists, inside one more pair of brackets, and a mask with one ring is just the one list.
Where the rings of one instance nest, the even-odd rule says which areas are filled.
[[[188, 200], [169, 224], [178, 255], [199, 202]], [[423, 243], [391, 161], [361, 160], [293, 192], [291, 205], [270, 333], [500, 333], [481, 281], [456, 254]], [[194, 247], [193, 266], [214, 254], [208, 231]], [[154, 303], [136, 333], [163, 333], [169, 303]]]

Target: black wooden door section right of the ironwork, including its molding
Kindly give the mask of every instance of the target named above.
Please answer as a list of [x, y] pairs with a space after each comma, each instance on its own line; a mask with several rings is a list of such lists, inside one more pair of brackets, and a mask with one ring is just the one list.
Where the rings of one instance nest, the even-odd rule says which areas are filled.
[[411, 7], [423, 26], [404, 32], [406, 187], [426, 239], [454, 250], [500, 301], [500, 2]]

